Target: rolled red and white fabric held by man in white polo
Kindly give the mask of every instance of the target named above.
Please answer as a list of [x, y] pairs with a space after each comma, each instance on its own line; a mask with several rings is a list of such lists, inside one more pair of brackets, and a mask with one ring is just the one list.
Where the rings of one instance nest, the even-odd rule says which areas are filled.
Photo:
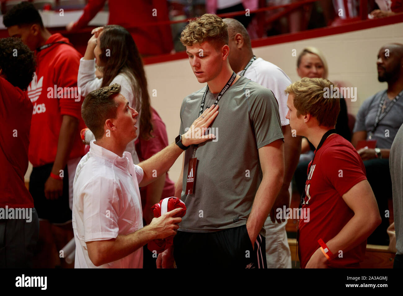
[[[178, 199], [177, 197], [167, 197], [162, 199], [159, 203], [156, 203], [152, 207], [154, 217], [158, 218], [164, 215], [165, 213], [172, 211], [177, 208], [182, 208], [182, 210], [174, 215], [173, 217], [183, 217], [186, 214], [186, 206], [183, 201]], [[153, 252], [156, 251], [157, 254], [164, 252], [167, 248], [172, 246], [173, 244], [173, 236], [164, 239], [153, 240], [147, 244], [147, 248]]]

